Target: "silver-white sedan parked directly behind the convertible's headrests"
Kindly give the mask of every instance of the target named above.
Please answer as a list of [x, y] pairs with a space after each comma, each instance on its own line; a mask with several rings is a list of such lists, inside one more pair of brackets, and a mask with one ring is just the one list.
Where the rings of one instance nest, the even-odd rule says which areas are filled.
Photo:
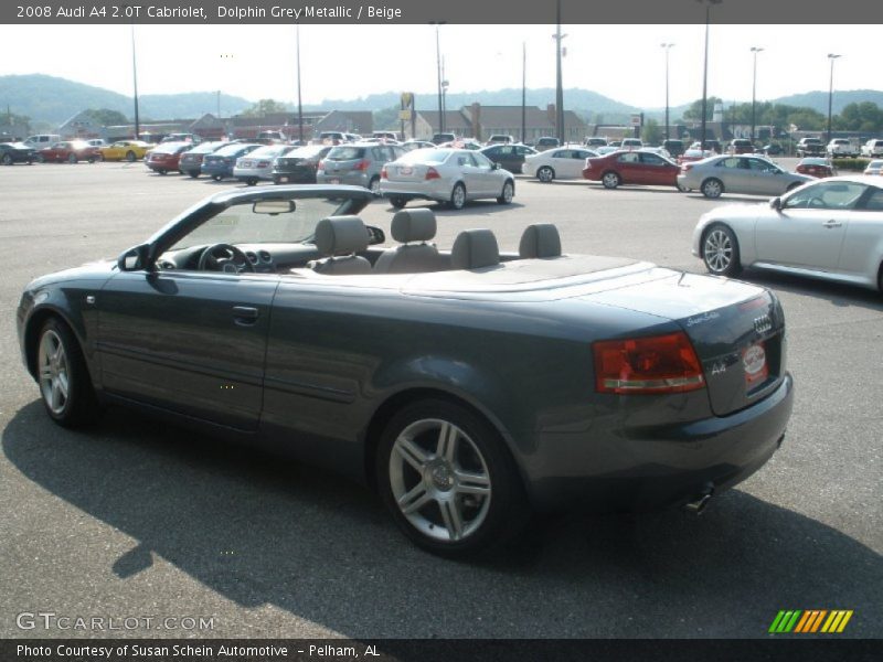
[[483, 154], [467, 149], [415, 149], [381, 172], [380, 192], [401, 209], [408, 200], [447, 202], [455, 210], [467, 200], [496, 197], [509, 204], [515, 178]]

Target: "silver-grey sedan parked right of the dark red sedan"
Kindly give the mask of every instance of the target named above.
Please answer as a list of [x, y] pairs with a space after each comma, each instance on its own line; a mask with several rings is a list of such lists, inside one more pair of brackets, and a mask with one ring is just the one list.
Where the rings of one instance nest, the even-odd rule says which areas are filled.
[[812, 179], [786, 172], [764, 157], [738, 156], [684, 163], [678, 174], [678, 184], [682, 190], [701, 191], [705, 197], [720, 197], [722, 193], [781, 195]]

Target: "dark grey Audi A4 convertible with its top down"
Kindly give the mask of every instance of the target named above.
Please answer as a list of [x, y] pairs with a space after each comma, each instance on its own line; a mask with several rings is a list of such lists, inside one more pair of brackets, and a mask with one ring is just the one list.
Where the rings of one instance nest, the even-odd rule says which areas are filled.
[[117, 261], [31, 282], [28, 370], [62, 425], [137, 405], [374, 485], [418, 545], [487, 552], [535, 509], [704, 505], [791, 410], [785, 322], [756, 286], [562, 255], [553, 225], [450, 250], [430, 210], [354, 186], [220, 193]]

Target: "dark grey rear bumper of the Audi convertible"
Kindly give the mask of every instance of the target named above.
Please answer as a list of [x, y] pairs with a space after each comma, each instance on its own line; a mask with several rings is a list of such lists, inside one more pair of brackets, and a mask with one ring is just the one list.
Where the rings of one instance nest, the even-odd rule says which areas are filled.
[[[786, 374], [764, 401], [730, 416], [689, 424], [544, 435], [528, 477], [540, 510], [650, 511], [726, 490], [781, 445], [794, 406]], [[597, 427], [597, 426], [596, 426]], [[539, 461], [538, 461], [539, 460]]]

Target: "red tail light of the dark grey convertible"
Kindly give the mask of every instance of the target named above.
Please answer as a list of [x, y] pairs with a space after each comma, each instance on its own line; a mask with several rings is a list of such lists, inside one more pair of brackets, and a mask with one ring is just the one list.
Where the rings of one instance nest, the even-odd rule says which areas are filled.
[[592, 345], [598, 393], [663, 394], [705, 387], [702, 364], [683, 331]]

